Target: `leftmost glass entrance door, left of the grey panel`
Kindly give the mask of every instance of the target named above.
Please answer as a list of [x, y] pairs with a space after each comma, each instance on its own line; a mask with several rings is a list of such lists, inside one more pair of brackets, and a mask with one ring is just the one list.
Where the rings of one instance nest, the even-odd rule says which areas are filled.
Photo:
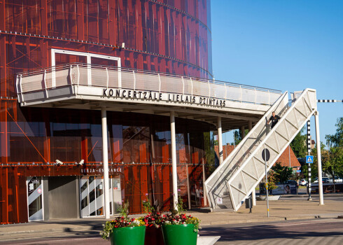
[[43, 221], [43, 184], [41, 177], [27, 177], [27, 210], [29, 221]]

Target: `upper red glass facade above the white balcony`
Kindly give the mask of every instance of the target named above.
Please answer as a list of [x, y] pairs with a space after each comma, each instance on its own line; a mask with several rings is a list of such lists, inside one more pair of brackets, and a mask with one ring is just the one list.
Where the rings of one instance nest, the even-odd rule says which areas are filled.
[[[120, 57], [123, 67], [211, 78], [209, 0], [4, 0], [0, 18], [1, 80], [51, 66], [51, 48]], [[124, 49], [113, 50], [122, 43]], [[2, 96], [13, 90], [7, 85]]]

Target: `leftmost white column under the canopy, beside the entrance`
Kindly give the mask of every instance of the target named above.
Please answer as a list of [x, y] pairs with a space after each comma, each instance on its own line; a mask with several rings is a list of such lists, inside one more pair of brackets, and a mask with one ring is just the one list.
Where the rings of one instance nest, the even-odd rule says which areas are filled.
[[104, 197], [105, 218], [110, 218], [110, 193], [109, 193], [109, 148], [107, 146], [107, 117], [106, 107], [102, 107], [102, 161], [104, 167]]

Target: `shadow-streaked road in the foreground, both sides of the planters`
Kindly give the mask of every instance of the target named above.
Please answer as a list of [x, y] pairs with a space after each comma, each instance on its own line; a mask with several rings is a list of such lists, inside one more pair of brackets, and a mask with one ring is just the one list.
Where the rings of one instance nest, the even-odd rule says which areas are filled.
[[[211, 225], [202, 228], [202, 236], [221, 236], [216, 245], [223, 244], [343, 244], [343, 219], [316, 219], [307, 221], [282, 221], [246, 225]], [[27, 237], [25, 240], [8, 241], [0, 244], [107, 244], [97, 233], [75, 234], [62, 237]]]

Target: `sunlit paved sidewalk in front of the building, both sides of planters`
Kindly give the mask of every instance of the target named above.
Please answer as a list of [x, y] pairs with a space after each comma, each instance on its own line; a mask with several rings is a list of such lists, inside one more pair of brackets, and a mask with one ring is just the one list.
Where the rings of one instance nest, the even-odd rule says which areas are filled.
[[[340, 195], [342, 197], [342, 195]], [[299, 197], [299, 196], [295, 196]], [[301, 197], [301, 196], [300, 196]], [[325, 197], [329, 197], [326, 196]], [[267, 218], [266, 201], [257, 201], [252, 213], [245, 205], [237, 212], [209, 212], [209, 209], [188, 211], [202, 221], [201, 225], [224, 225], [235, 223], [261, 223], [313, 218], [337, 218], [343, 216], [343, 204], [337, 200], [325, 200], [320, 206], [318, 201], [307, 201], [299, 198], [283, 197], [278, 201], [269, 201], [269, 218]], [[73, 220], [53, 220], [25, 224], [0, 225], [1, 241], [25, 239], [29, 237], [49, 237], [49, 235], [90, 235], [99, 234], [104, 218], [82, 218]]]

